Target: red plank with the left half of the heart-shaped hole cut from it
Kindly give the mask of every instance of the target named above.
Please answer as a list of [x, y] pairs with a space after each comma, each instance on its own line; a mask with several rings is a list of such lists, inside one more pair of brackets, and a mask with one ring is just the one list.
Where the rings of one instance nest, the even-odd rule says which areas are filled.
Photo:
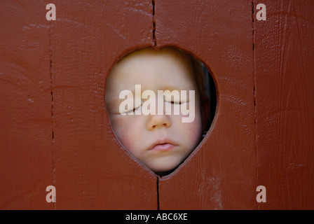
[[57, 209], [156, 209], [156, 176], [114, 137], [105, 80], [126, 52], [151, 45], [151, 1], [55, 1], [51, 29]]

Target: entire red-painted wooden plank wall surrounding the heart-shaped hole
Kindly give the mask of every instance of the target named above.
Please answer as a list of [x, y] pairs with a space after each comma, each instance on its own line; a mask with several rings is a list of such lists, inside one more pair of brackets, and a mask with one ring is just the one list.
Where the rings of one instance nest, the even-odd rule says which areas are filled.
[[[0, 1], [0, 209], [314, 209], [314, 3], [263, 1], [266, 21], [258, 3]], [[118, 58], [164, 45], [212, 71], [217, 111], [159, 178], [114, 137], [104, 90]]]

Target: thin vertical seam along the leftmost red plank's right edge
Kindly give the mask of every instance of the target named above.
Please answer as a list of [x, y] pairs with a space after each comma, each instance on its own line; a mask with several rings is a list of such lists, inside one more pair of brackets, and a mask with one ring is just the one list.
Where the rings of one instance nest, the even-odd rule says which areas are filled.
[[[53, 122], [53, 46], [51, 45], [51, 21], [49, 21], [49, 57], [50, 57], [50, 94], [51, 94], [51, 140], [52, 140], [52, 149], [55, 142], [55, 128]], [[53, 151], [53, 186], [55, 186], [55, 153]], [[55, 210], [55, 203], [53, 203], [53, 210]]]

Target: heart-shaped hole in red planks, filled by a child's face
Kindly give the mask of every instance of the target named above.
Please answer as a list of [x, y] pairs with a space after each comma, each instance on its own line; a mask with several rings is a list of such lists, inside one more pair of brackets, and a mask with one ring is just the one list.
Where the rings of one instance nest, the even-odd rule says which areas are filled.
[[205, 137], [214, 117], [215, 92], [206, 67], [184, 50], [144, 48], [111, 68], [105, 101], [121, 145], [163, 176]]

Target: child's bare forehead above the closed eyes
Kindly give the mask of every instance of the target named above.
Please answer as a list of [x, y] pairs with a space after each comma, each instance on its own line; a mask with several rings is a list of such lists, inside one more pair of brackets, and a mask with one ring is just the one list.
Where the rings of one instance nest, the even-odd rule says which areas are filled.
[[[109, 81], [109, 82], [108, 82]], [[145, 48], [123, 57], [111, 70], [107, 90], [195, 89], [193, 65], [186, 53], [173, 48]]]

